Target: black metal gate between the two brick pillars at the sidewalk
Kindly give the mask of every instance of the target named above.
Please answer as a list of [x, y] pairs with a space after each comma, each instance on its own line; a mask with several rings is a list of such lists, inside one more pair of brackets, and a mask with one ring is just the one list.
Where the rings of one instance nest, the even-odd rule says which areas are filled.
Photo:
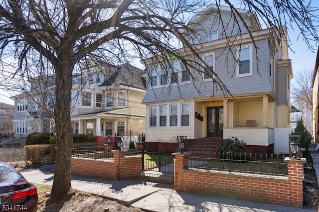
[[174, 157], [157, 148], [142, 148], [142, 170], [174, 173]]

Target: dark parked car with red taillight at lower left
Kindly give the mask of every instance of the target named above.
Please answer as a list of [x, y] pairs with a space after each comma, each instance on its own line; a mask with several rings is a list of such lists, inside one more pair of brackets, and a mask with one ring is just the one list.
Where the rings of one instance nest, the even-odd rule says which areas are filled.
[[11, 165], [0, 162], [0, 211], [36, 212], [37, 206], [36, 187]]

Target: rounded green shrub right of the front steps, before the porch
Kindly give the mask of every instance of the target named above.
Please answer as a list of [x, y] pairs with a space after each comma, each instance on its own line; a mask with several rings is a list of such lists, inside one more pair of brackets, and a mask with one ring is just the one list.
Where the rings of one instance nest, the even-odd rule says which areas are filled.
[[246, 143], [244, 143], [243, 140], [238, 140], [236, 137], [227, 138], [224, 145], [219, 145], [216, 147], [218, 151], [220, 151], [221, 154], [226, 154], [228, 152], [231, 152], [234, 157], [234, 153], [240, 154], [244, 152]]

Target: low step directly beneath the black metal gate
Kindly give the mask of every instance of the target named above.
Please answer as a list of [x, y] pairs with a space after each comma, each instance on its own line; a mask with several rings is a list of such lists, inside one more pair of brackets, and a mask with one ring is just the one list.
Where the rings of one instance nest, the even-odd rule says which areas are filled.
[[153, 182], [153, 183], [174, 184], [174, 174], [157, 172], [157, 171], [142, 172], [141, 174], [135, 175], [135, 179]]

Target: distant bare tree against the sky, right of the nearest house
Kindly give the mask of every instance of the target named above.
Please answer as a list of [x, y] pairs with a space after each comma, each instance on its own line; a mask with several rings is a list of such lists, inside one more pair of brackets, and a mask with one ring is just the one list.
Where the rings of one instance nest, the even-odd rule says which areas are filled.
[[[298, 106], [306, 106], [313, 111], [313, 70], [304, 69], [297, 72], [291, 85], [291, 96]], [[300, 108], [301, 109], [301, 108]]]

